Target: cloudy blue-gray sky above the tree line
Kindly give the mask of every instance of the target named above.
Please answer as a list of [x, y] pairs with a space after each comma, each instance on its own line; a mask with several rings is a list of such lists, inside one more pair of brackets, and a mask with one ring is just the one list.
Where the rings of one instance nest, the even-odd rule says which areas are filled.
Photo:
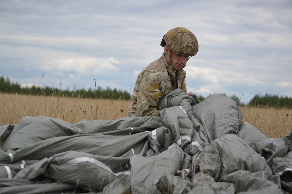
[[292, 97], [291, 0], [1, 0], [0, 75], [69, 90], [94, 89], [95, 79], [132, 93], [178, 26], [199, 43], [188, 92]]

